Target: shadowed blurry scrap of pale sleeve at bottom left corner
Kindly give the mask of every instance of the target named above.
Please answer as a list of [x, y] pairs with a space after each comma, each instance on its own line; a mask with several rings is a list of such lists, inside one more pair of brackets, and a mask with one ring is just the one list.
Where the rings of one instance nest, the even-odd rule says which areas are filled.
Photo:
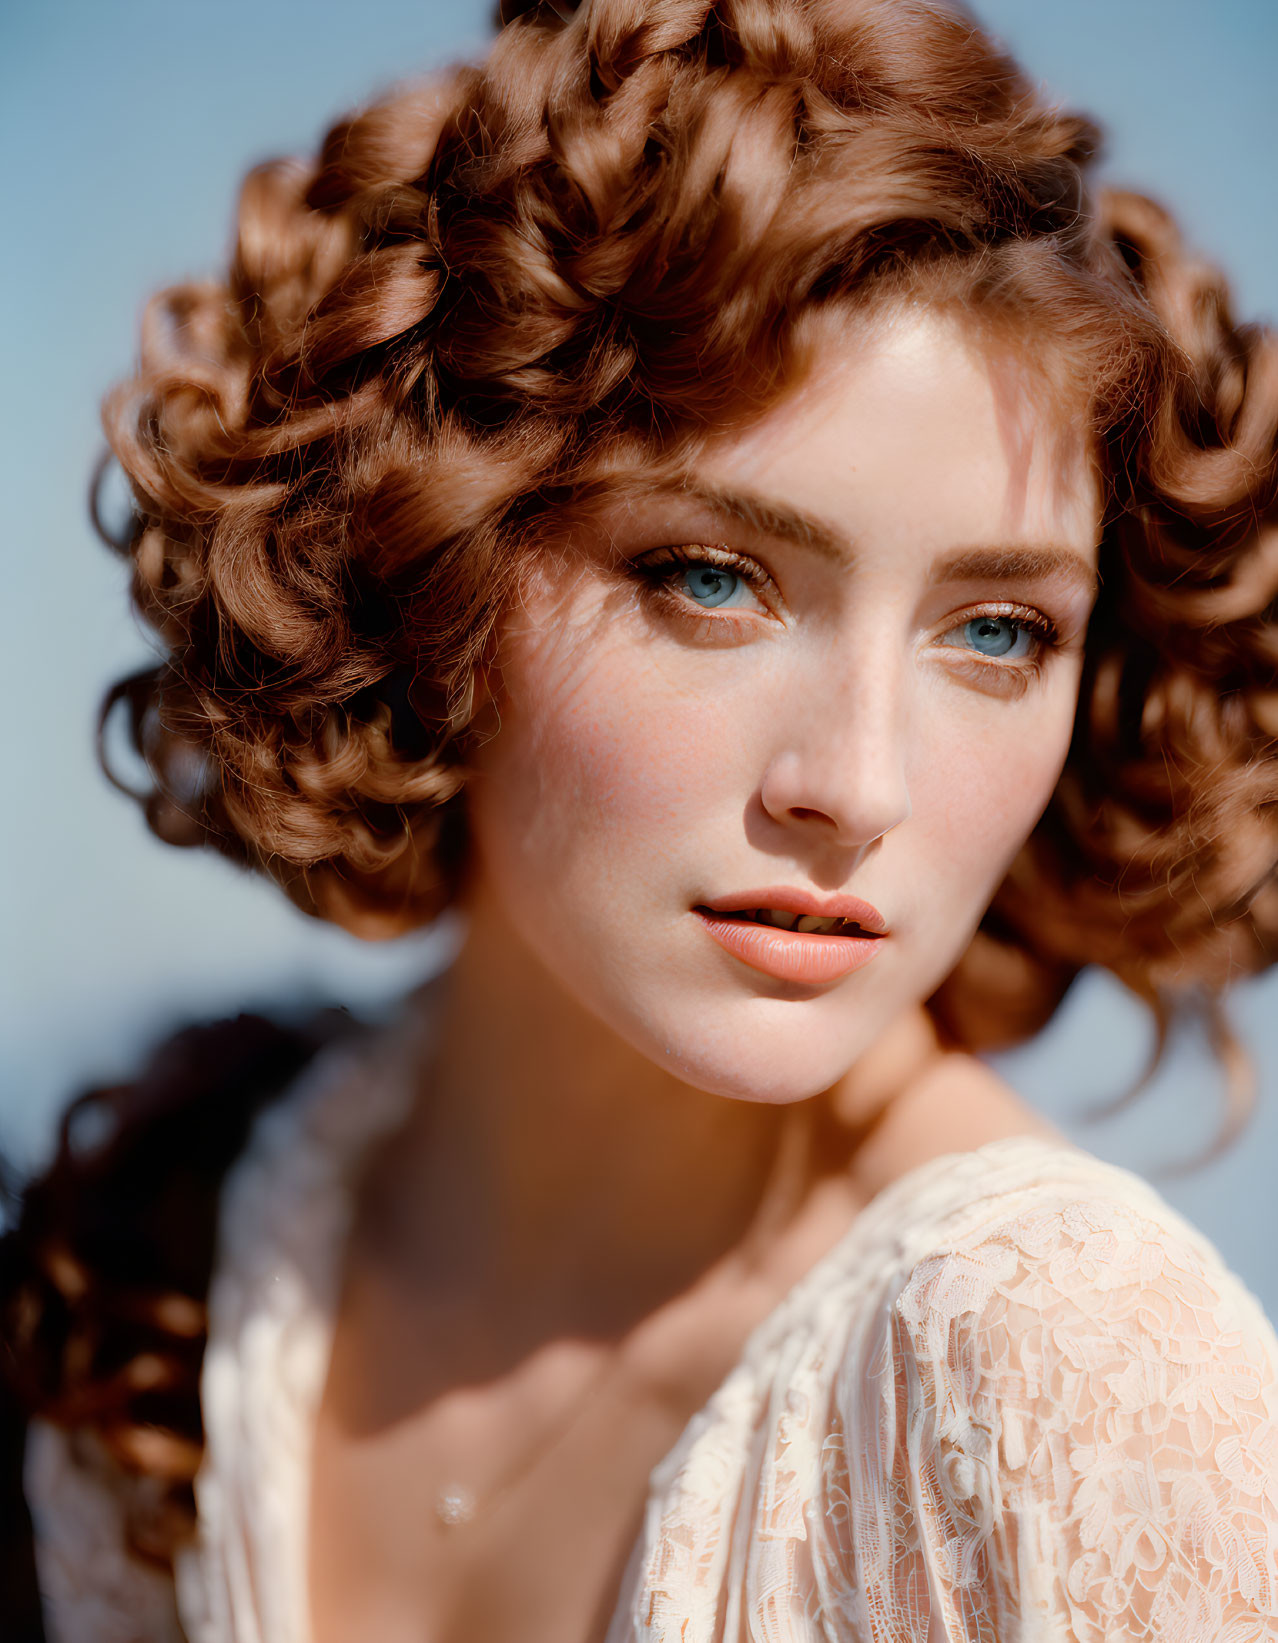
[[130, 1556], [120, 1505], [71, 1434], [31, 1421], [23, 1489], [49, 1643], [182, 1643], [172, 1579]]

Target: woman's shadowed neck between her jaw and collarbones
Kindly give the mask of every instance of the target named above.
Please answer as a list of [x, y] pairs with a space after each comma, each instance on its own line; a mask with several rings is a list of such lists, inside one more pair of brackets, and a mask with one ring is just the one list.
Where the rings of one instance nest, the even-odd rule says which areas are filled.
[[715, 1267], [749, 1278], [815, 1194], [846, 1190], [859, 1135], [935, 1052], [912, 1020], [810, 1101], [708, 1094], [583, 1009], [483, 899], [432, 1014], [394, 1245], [419, 1275], [435, 1252], [457, 1293], [590, 1296], [595, 1323], [608, 1296], [632, 1316]]

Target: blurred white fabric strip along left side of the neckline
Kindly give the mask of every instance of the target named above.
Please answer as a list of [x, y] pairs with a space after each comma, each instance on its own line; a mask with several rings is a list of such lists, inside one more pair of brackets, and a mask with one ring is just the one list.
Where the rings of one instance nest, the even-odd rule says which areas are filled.
[[197, 1636], [284, 1635], [306, 1608], [309, 1452], [370, 1148], [406, 1119], [399, 1040], [338, 1043], [261, 1114], [227, 1178], [200, 1377], [197, 1539], [177, 1569]]

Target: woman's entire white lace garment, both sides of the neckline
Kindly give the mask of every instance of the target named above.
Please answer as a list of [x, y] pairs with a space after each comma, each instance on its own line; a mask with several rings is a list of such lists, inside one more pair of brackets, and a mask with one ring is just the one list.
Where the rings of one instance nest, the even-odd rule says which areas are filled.
[[[355, 1168], [402, 1111], [329, 1052], [227, 1180], [176, 1592], [126, 1556], [74, 1443], [33, 1424], [51, 1643], [309, 1643], [310, 1439]], [[608, 1631], [1137, 1638], [1278, 1640], [1278, 1337], [1150, 1186], [1038, 1139], [905, 1175], [754, 1331], [652, 1472]]]

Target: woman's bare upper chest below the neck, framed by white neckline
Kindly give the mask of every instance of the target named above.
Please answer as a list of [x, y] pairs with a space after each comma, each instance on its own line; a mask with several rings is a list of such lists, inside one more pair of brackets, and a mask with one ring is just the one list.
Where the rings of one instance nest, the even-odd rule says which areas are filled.
[[463, 1314], [406, 1331], [360, 1272], [312, 1443], [307, 1643], [603, 1643], [654, 1469], [733, 1369], [749, 1311], [711, 1290], [626, 1352], [529, 1344]]

